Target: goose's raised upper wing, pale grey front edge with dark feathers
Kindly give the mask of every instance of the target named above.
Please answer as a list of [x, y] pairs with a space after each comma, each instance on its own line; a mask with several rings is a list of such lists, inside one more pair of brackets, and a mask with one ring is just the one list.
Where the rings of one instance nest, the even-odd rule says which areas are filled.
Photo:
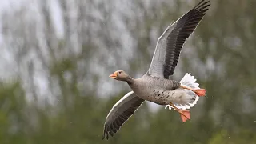
[[194, 9], [167, 27], [158, 38], [148, 74], [167, 79], [174, 74], [182, 46], [206, 14], [208, 6], [210, 2], [202, 0]]

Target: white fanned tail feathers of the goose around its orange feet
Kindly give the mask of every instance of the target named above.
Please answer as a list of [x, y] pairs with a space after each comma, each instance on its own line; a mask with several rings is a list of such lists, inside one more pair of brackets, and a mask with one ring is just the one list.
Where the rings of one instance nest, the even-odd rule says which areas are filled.
[[[196, 81], [197, 80], [194, 78], [194, 76], [191, 76], [190, 73], [186, 73], [180, 82], [182, 85], [190, 86], [191, 88], [194, 88], [194, 89], [199, 89], [199, 84]], [[186, 94], [196, 97], [194, 102], [186, 102], [186, 103], [182, 103], [182, 104], [174, 103], [174, 106], [176, 106], [178, 109], [187, 110], [187, 109], [190, 109], [191, 107], [193, 107], [195, 104], [197, 104], [199, 97], [197, 94], [195, 94], [191, 90], [186, 90], [186, 89], [184, 89], [184, 90], [186, 91]], [[169, 108], [169, 110], [171, 110], [171, 108], [173, 108], [170, 105], [166, 105], [166, 108], [167, 107]]]

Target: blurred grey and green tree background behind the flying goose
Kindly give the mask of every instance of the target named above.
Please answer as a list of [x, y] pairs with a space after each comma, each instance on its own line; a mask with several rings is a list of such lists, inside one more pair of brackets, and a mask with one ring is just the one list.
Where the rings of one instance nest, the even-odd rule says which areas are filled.
[[[174, 72], [208, 90], [192, 120], [150, 102], [102, 141], [106, 115], [142, 76], [163, 30], [198, 0], [19, 0], [1, 6], [0, 143], [256, 143], [256, 1], [212, 0]], [[4, 3], [2, 1], [2, 3]]]

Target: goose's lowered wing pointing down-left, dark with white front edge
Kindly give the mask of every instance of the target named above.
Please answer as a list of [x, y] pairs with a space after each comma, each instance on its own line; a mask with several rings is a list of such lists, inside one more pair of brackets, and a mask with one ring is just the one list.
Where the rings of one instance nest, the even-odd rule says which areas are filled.
[[102, 139], [109, 138], [109, 134], [113, 137], [120, 127], [134, 114], [144, 100], [138, 98], [134, 91], [130, 91], [122, 97], [110, 110], [106, 116]]

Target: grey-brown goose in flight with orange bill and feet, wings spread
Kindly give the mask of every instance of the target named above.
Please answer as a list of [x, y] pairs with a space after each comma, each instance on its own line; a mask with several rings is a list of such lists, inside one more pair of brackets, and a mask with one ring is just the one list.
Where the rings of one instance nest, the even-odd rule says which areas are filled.
[[192, 10], [167, 27], [158, 38], [150, 68], [141, 78], [131, 78], [123, 70], [110, 74], [110, 78], [127, 82], [131, 90], [121, 98], [106, 116], [102, 139], [113, 137], [114, 133], [130, 118], [144, 101], [174, 108], [182, 122], [190, 120], [190, 109], [198, 98], [205, 96], [194, 76], [185, 74], [181, 81], [169, 79], [174, 74], [182, 46], [202, 20], [210, 2], [202, 0]]

